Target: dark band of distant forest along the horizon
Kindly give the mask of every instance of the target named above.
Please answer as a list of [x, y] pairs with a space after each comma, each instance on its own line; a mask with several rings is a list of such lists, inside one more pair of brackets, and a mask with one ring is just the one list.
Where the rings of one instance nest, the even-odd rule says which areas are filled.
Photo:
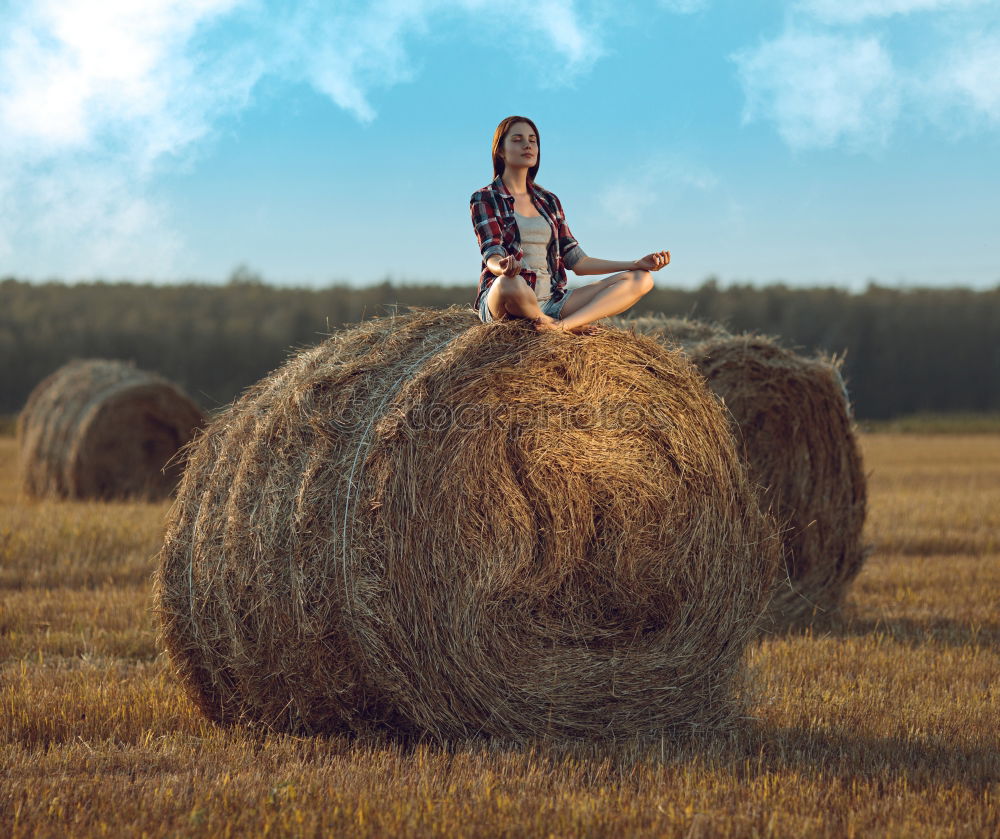
[[[226, 285], [0, 280], [0, 413], [72, 358], [131, 359], [207, 409], [230, 402], [290, 352], [392, 304], [471, 304], [437, 285], [281, 288], [248, 272]], [[784, 285], [654, 289], [630, 314], [687, 315], [778, 336], [803, 352], [846, 354], [859, 419], [1000, 411], [1000, 286], [863, 293]]]

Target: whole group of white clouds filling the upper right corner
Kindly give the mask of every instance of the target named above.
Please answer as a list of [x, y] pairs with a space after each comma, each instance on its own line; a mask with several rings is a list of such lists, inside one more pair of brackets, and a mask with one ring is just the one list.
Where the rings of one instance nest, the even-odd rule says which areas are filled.
[[[791, 8], [781, 35], [732, 59], [745, 121], [773, 122], [793, 148], [876, 148], [901, 120], [951, 136], [1000, 125], [995, 0], [797, 0]], [[905, 30], [885, 22], [918, 14]]]

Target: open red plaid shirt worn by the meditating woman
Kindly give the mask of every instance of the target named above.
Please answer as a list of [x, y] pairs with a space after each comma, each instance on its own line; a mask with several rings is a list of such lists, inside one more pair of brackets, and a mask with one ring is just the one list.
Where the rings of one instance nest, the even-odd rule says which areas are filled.
[[[566, 293], [566, 269], [571, 269], [586, 254], [566, 226], [566, 215], [555, 193], [529, 183], [528, 194], [531, 196], [531, 203], [552, 228], [548, 252], [549, 275], [552, 277], [549, 289], [553, 302], [557, 302]], [[472, 226], [479, 240], [479, 250], [483, 255], [479, 290], [473, 304], [478, 309], [479, 301], [496, 279], [496, 275], [486, 267], [486, 260], [493, 254], [510, 254], [518, 262], [523, 262], [524, 252], [521, 250], [521, 232], [517, 227], [517, 219], [514, 218], [514, 196], [499, 175], [489, 186], [472, 193], [469, 210], [472, 213]], [[534, 271], [522, 268], [521, 276], [529, 286], [535, 287], [538, 277]]]

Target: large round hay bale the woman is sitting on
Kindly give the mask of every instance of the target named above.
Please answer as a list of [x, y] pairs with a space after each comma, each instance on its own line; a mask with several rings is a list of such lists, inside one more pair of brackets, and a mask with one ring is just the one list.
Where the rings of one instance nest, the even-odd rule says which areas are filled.
[[731, 718], [778, 554], [682, 353], [418, 310], [207, 428], [155, 599], [220, 722], [615, 738]]

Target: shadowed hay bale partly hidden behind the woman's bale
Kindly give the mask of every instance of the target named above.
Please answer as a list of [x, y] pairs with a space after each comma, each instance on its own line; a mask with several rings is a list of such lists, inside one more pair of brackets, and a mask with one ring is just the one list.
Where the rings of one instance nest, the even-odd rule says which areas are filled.
[[762, 506], [785, 528], [787, 575], [770, 625], [836, 610], [864, 561], [867, 495], [839, 361], [680, 318], [615, 323], [684, 347], [729, 409], [750, 476], [764, 488]]

